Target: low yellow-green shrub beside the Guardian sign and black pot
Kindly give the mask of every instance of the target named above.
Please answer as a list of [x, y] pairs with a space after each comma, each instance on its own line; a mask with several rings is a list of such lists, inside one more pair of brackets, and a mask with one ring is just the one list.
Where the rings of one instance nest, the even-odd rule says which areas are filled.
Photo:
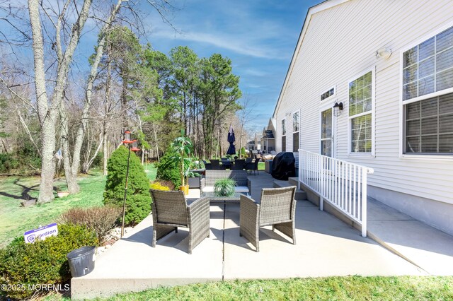
[[[74, 249], [98, 244], [95, 232], [81, 225], [58, 225], [58, 235], [25, 244], [23, 237], [0, 250], [0, 284], [24, 285], [25, 290], [2, 293], [24, 299], [35, 293], [33, 285], [57, 285], [69, 281], [67, 254]], [[0, 285], [1, 287], [1, 285]]]

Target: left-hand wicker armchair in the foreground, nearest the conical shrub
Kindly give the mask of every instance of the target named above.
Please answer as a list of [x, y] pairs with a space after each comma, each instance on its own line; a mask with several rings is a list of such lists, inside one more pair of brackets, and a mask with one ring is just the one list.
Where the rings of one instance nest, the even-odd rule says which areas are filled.
[[189, 228], [189, 254], [206, 237], [210, 237], [210, 200], [201, 198], [188, 205], [183, 191], [150, 189], [153, 199], [153, 240], [166, 236], [178, 227]]

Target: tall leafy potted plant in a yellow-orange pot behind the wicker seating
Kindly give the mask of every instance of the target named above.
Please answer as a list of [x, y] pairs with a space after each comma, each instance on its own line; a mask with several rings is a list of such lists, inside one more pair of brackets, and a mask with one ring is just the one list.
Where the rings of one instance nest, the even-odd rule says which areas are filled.
[[176, 161], [179, 167], [181, 185], [179, 189], [184, 191], [184, 194], [189, 194], [189, 185], [187, 184], [187, 178], [190, 177], [190, 153], [192, 152], [192, 142], [190, 138], [186, 137], [181, 131], [181, 136], [175, 138], [171, 143], [173, 151], [176, 153], [173, 156], [173, 160]]

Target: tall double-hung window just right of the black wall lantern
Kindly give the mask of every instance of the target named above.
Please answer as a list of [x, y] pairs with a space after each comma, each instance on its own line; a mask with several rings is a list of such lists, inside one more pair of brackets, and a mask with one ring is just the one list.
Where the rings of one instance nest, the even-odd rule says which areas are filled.
[[372, 71], [349, 83], [350, 152], [372, 153]]

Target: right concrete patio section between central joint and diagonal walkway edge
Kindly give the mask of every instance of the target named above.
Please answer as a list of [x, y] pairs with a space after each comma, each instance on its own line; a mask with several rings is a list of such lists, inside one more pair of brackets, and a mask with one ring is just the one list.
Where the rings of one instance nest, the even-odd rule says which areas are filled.
[[309, 201], [298, 201], [296, 210], [297, 244], [260, 228], [257, 253], [239, 236], [239, 206], [226, 207], [224, 279], [426, 275]]

